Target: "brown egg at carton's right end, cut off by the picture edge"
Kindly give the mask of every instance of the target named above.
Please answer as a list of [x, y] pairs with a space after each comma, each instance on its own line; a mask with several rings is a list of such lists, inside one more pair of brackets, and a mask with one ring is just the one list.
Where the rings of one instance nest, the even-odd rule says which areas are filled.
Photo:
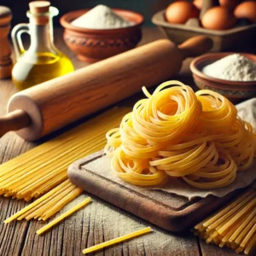
[[247, 19], [251, 22], [256, 22], [256, 2], [254, 1], [247, 1], [240, 3], [235, 11], [234, 15], [236, 19]]

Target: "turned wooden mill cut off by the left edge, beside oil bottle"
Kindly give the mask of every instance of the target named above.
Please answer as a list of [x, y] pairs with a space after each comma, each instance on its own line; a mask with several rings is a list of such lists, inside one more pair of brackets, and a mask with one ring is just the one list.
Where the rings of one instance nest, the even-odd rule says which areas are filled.
[[11, 10], [0, 5], [0, 79], [7, 79], [11, 76], [13, 63], [10, 58], [11, 47], [8, 40]]

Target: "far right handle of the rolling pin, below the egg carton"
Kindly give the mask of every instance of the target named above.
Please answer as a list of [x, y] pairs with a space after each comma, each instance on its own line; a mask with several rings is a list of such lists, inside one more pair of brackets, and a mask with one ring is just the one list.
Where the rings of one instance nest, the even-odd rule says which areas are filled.
[[207, 36], [196, 36], [178, 45], [178, 49], [180, 49], [183, 59], [185, 59], [203, 55], [208, 50], [212, 49], [212, 46], [213, 42], [211, 38]]

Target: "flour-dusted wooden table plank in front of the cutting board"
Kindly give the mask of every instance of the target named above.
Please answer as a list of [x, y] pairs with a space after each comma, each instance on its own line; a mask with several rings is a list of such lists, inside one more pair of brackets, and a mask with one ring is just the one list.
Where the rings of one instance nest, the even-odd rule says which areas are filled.
[[[85, 193], [79, 196], [61, 212], [86, 196], [88, 195]], [[82, 250], [85, 247], [150, 225], [94, 196], [92, 201], [88, 207], [76, 212], [43, 236], [37, 236], [36, 230], [44, 224], [32, 221], [21, 255], [83, 255]], [[196, 238], [192, 234], [177, 235], [151, 226], [154, 229], [151, 234], [108, 247], [96, 255], [200, 255]]]

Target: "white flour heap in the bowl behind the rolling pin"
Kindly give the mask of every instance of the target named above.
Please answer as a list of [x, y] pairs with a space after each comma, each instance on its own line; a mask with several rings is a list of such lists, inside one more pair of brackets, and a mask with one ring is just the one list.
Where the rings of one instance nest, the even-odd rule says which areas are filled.
[[90, 29], [113, 29], [132, 26], [134, 23], [115, 14], [108, 6], [100, 4], [78, 19], [73, 20], [71, 24]]

